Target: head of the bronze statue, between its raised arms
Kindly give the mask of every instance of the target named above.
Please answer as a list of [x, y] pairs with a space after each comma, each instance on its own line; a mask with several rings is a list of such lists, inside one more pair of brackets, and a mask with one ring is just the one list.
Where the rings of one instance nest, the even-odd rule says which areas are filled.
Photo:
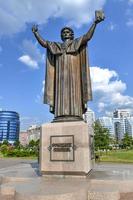
[[61, 30], [61, 39], [63, 41], [65, 40], [73, 40], [74, 39], [74, 32], [71, 28], [69, 27], [64, 27], [62, 30]]

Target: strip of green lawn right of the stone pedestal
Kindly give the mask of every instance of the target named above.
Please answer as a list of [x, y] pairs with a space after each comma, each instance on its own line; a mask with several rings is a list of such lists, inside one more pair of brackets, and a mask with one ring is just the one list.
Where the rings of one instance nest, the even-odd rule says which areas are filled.
[[[96, 153], [99, 154], [99, 153]], [[119, 162], [119, 163], [133, 163], [133, 150], [113, 150], [102, 152], [100, 156], [102, 162]]]

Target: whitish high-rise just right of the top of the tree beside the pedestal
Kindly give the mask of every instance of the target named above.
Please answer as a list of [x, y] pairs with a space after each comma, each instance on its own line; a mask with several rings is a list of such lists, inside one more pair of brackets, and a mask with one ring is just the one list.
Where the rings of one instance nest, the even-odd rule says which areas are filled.
[[109, 130], [109, 134], [114, 137], [114, 123], [111, 117], [100, 117], [98, 118], [100, 124]]

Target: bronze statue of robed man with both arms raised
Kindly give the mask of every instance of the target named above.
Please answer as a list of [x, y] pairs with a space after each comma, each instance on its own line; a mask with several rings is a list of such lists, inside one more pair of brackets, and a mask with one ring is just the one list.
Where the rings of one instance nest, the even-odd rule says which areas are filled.
[[63, 43], [42, 39], [38, 27], [32, 27], [40, 45], [47, 49], [44, 103], [50, 105], [55, 122], [83, 119], [87, 102], [92, 99], [87, 42], [92, 38], [96, 25], [103, 20], [104, 13], [96, 11], [89, 31], [76, 39], [71, 28], [63, 28]]

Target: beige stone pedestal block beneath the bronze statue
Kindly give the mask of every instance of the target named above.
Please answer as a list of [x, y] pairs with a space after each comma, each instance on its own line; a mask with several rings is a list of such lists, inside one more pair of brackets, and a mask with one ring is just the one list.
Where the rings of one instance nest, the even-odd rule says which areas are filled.
[[41, 127], [42, 175], [86, 176], [93, 165], [93, 131], [85, 122], [59, 122]]

